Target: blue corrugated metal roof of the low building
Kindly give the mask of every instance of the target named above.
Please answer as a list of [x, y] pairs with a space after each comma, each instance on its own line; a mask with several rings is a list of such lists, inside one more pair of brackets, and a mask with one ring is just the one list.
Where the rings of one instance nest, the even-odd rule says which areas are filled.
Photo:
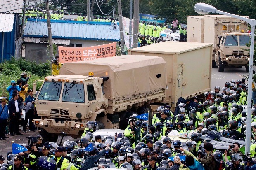
[[[119, 26], [109, 22], [51, 20], [52, 38], [120, 41]], [[48, 37], [46, 19], [28, 19], [24, 37]]]

